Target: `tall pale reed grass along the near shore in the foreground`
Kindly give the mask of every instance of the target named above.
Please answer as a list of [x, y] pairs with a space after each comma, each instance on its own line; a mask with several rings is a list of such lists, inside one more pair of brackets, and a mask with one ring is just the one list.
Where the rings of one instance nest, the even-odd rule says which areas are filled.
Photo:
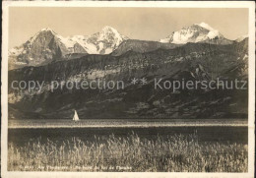
[[[166, 138], [167, 137], [167, 138]], [[40, 139], [24, 147], [9, 145], [8, 169], [27, 171], [170, 171], [246, 172], [247, 146], [198, 142], [193, 135], [141, 139], [95, 137], [94, 142], [73, 138], [63, 143]]]

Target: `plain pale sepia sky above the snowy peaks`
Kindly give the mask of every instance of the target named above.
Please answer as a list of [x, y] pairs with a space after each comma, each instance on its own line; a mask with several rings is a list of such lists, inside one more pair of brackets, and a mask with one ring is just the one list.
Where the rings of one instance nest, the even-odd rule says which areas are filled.
[[248, 33], [248, 9], [10, 7], [9, 48], [43, 28], [65, 37], [90, 35], [110, 26], [132, 39], [159, 41], [172, 31], [202, 22], [235, 39]]

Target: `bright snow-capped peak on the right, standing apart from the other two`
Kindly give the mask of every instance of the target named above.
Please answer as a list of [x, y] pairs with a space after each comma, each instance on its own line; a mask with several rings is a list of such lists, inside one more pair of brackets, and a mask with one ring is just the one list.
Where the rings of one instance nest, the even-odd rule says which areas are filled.
[[172, 32], [166, 38], [160, 39], [160, 42], [170, 42], [185, 44], [187, 42], [201, 42], [214, 38], [224, 38], [219, 30], [213, 29], [206, 23], [194, 24], [191, 27], [183, 28]]

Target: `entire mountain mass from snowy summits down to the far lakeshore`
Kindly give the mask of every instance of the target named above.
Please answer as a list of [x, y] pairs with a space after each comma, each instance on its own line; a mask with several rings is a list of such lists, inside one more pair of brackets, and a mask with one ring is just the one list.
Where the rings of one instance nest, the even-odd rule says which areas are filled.
[[[154, 89], [154, 80], [248, 81], [248, 37], [229, 40], [205, 24], [159, 41], [129, 39], [106, 27], [90, 36], [64, 38], [44, 29], [10, 50], [9, 118], [246, 118], [247, 89]], [[21, 64], [20, 64], [21, 63]], [[15, 64], [15, 65], [13, 65]], [[132, 79], [147, 84], [131, 85]], [[56, 89], [59, 83], [123, 81], [124, 89]], [[13, 81], [44, 82], [38, 92]]]

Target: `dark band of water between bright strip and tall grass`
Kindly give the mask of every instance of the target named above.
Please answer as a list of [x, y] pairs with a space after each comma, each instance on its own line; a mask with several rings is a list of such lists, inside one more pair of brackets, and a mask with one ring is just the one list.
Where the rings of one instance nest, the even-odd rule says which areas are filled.
[[107, 139], [109, 135], [116, 137], [127, 137], [131, 133], [140, 138], [156, 139], [174, 134], [196, 134], [199, 142], [224, 142], [247, 144], [248, 127], [149, 127], [149, 128], [55, 128], [55, 129], [9, 129], [8, 140], [18, 147], [24, 146], [31, 140], [40, 138], [41, 142], [47, 139], [56, 143], [62, 143], [73, 137], [82, 141], [94, 141], [96, 137], [101, 140]]

